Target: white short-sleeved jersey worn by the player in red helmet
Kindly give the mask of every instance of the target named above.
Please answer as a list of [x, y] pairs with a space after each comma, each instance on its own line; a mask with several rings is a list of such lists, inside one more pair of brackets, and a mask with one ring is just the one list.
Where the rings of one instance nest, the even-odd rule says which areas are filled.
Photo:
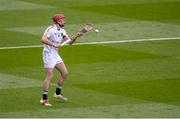
[[[44, 35], [46, 35], [48, 39], [55, 44], [60, 44], [64, 37], [68, 37], [66, 31], [63, 28], [58, 29], [56, 25], [49, 26], [45, 30]], [[58, 52], [58, 48], [44, 44], [43, 51]]]

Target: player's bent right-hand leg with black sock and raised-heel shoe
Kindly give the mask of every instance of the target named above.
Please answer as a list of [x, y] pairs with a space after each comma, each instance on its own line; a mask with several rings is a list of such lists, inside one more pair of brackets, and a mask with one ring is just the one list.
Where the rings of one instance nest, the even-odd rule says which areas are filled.
[[66, 65], [63, 62], [56, 64], [56, 69], [59, 71], [60, 76], [59, 76], [59, 79], [57, 82], [57, 87], [56, 87], [56, 92], [54, 94], [54, 97], [60, 98], [64, 101], [67, 101], [67, 98], [62, 96], [61, 90], [62, 90], [62, 86], [64, 84], [64, 81], [68, 75], [68, 70], [66, 68]]

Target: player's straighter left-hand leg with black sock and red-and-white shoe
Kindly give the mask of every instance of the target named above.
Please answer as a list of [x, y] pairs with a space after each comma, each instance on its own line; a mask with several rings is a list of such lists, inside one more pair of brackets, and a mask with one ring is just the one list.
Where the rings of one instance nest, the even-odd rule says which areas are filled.
[[51, 106], [51, 104], [49, 104], [48, 102], [48, 90], [49, 90], [49, 86], [51, 83], [53, 77], [53, 68], [47, 68], [46, 69], [46, 76], [43, 82], [43, 96], [41, 99], [41, 103], [46, 105], [46, 106]]

